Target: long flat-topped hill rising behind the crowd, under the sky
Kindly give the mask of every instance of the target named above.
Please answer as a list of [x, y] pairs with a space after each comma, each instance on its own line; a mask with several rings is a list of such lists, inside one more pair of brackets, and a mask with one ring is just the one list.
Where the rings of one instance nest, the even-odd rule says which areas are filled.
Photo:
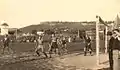
[[[110, 23], [110, 22], [109, 22]], [[95, 21], [91, 22], [41, 22], [38, 25], [30, 25], [27, 27], [20, 28], [22, 32], [32, 32], [32, 30], [47, 30], [47, 29], [81, 29], [81, 30], [90, 30], [95, 29]]]

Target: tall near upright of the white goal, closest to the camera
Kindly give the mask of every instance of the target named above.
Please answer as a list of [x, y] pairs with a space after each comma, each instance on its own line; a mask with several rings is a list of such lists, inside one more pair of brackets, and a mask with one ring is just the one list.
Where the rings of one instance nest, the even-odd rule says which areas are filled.
[[99, 16], [96, 18], [96, 63], [99, 65]]

